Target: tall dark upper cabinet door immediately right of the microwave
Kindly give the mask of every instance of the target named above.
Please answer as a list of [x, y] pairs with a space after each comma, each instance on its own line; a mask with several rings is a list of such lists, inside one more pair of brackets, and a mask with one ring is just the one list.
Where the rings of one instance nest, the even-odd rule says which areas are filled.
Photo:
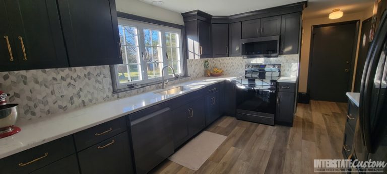
[[298, 54], [301, 13], [282, 15], [280, 54]]

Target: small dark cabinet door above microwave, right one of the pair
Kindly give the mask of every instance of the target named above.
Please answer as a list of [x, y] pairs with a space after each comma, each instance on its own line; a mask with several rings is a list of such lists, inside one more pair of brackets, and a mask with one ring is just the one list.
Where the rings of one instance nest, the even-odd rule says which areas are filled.
[[273, 16], [261, 19], [261, 37], [280, 35], [281, 16]]

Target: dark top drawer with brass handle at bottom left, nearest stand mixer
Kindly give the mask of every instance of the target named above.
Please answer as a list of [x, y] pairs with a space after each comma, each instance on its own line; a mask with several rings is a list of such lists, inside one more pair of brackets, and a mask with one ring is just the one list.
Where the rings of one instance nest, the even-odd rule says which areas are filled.
[[30, 173], [75, 153], [72, 136], [67, 136], [0, 159], [1, 173]]

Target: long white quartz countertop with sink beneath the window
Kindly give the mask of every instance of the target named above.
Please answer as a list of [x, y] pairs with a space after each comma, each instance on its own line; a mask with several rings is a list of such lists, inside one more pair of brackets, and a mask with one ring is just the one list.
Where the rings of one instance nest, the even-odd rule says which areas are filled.
[[22, 124], [16, 123], [22, 130], [0, 139], [0, 159], [232, 78], [235, 77], [204, 77], [166, 87], [166, 89], [176, 86], [189, 88], [178, 94], [155, 94], [154, 92], [163, 91], [158, 89]]

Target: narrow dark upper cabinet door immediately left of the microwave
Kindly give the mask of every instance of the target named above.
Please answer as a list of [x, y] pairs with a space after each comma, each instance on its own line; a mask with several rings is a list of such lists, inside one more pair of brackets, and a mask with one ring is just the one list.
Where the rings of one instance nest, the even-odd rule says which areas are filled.
[[242, 37], [242, 23], [235, 22], [228, 25], [229, 56], [240, 56], [240, 39]]

